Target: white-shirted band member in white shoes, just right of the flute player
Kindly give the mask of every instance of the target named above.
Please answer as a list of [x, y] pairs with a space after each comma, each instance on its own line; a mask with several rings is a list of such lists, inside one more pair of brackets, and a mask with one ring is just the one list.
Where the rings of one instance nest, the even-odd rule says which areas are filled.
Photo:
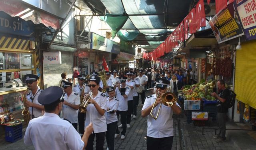
[[[125, 133], [126, 133], [126, 117], [127, 117], [127, 111], [128, 111], [128, 103], [127, 98], [130, 94], [131, 88], [129, 86], [126, 86], [126, 76], [120, 76], [120, 84], [117, 85], [118, 88], [116, 88], [116, 98], [119, 100], [119, 106], [117, 109], [117, 118], [119, 118], [119, 114], [121, 115], [121, 124], [118, 126], [118, 128], [123, 128], [121, 132], [121, 139], [124, 140]], [[116, 134], [115, 138], [119, 135], [119, 130], [116, 128]]]

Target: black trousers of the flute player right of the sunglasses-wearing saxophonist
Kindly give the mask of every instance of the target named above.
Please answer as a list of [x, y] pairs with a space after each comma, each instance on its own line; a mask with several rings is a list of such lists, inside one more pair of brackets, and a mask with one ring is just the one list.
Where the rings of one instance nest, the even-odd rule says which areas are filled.
[[108, 150], [114, 150], [116, 128], [117, 121], [107, 124], [108, 131], [106, 132], [106, 140], [108, 144]]

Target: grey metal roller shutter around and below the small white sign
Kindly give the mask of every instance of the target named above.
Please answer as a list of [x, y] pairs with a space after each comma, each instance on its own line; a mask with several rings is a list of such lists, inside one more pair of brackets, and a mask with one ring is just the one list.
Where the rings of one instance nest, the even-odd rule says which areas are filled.
[[44, 64], [44, 88], [60, 86], [61, 74], [66, 72], [67, 78], [73, 75], [73, 52], [61, 52], [62, 64]]

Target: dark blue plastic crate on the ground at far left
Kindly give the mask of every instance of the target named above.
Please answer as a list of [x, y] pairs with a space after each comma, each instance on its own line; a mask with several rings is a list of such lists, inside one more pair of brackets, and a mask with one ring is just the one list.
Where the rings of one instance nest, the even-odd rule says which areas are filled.
[[22, 138], [22, 124], [17, 126], [5, 126], [6, 142], [16, 142]]

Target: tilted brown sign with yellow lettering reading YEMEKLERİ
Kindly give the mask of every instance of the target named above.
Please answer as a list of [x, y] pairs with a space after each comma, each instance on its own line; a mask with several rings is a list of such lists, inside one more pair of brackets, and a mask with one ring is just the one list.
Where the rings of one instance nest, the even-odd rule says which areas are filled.
[[209, 24], [219, 44], [244, 35], [233, 4], [218, 12]]

